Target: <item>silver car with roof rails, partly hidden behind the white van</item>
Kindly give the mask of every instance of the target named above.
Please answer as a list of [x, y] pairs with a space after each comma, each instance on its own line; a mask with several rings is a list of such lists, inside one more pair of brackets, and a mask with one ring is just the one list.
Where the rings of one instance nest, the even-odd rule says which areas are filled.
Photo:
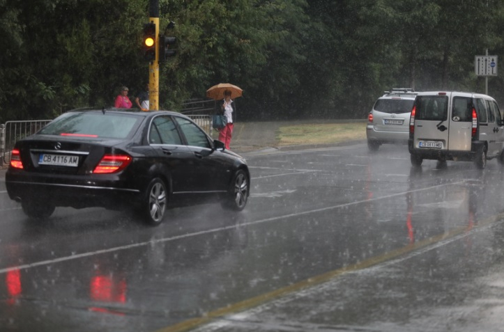
[[392, 90], [374, 103], [366, 127], [369, 150], [385, 143], [408, 143], [409, 119], [416, 93], [410, 89]]

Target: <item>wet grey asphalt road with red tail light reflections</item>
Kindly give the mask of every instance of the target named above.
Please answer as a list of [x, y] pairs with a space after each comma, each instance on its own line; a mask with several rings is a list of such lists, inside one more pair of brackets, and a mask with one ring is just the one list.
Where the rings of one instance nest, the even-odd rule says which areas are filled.
[[0, 331], [504, 331], [504, 173], [365, 144], [246, 155], [244, 212], [26, 220], [0, 181]]

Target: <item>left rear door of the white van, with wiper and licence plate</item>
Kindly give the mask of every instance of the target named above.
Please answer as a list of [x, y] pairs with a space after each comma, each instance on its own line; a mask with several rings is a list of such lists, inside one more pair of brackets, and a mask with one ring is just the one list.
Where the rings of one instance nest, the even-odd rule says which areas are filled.
[[448, 104], [451, 93], [418, 95], [415, 100], [413, 148], [448, 149]]

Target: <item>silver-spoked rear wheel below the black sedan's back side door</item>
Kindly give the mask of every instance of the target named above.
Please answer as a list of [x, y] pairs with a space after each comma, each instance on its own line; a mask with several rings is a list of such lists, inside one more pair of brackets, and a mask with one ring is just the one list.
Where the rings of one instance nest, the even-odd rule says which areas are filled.
[[168, 195], [167, 187], [163, 180], [155, 177], [147, 186], [146, 198], [144, 206], [141, 207], [144, 211], [146, 223], [152, 226], [158, 226], [167, 209]]

